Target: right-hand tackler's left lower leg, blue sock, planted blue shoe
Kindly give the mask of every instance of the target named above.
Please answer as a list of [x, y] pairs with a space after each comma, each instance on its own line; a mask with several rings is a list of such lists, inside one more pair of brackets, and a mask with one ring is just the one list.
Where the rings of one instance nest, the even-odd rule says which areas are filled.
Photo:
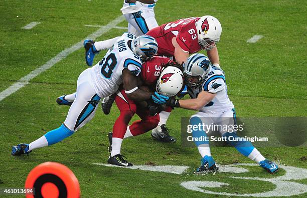
[[[190, 118], [190, 124], [197, 125], [197, 126], [199, 124], [203, 124], [203, 120], [199, 116], [204, 116], [204, 115], [201, 115], [200, 113], [193, 115]], [[203, 119], [204, 118], [205, 120], [208, 120], [206, 119], [206, 117], [203, 117]], [[203, 131], [201, 128], [198, 128], [198, 127], [192, 127], [192, 129], [193, 129], [192, 137], [193, 137], [194, 143], [197, 146], [199, 153], [202, 156], [201, 166], [197, 168], [196, 173], [200, 174], [200, 173], [204, 173], [208, 171], [217, 171], [219, 167], [216, 165], [213, 157], [211, 156], [209, 138], [206, 134], [206, 131]]]

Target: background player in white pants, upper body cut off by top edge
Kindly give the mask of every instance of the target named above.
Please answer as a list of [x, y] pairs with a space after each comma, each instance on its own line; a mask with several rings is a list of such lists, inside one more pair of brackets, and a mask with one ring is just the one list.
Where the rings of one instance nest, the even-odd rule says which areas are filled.
[[[149, 29], [158, 26], [155, 17], [155, 5], [158, 0], [124, 0], [123, 7], [120, 9], [128, 21], [128, 32], [133, 33], [136, 36], [144, 35]], [[88, 66], [92, 66], [94, 56], [101, 50], [109, 49], [119, 36], [103, 40], [96, 41], [85, 40], [84, 47], [85, 60]]]

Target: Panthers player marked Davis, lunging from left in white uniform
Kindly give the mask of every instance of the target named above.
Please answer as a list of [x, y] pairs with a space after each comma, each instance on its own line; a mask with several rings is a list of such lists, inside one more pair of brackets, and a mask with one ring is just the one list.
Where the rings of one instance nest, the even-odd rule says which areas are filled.
[[[124, 84], [127, 97], [130, 99], [137, 101], [154, 98], [156, 102], [166, 102], [168, 97], [137, 87], [136, 76], [141, 71], [141, 59], [150, 58], [157, 50], [155, 38], [147, 35], [136, 37], [132, 33], [124, 33], [101, 61], [79, 75], [77, 92], [70, 95], [74, 100], [64, 123], [30, 144], [12, 146], [12, 155], [27, 154], [33, 149], [52, 145], [72, 135], [93, 118], [100, 98], [113, 94], [121, 83]], [[69, 102], [70, 98], [63, 99]]]

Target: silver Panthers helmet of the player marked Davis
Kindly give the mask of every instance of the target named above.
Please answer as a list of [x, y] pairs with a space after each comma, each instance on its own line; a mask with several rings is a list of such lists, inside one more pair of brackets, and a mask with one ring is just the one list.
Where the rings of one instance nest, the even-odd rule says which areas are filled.
[[149, 35], [137, 36], [133, 41], [134, 52], [143, 61], [151, 58], [158, 52], [157, 40]]

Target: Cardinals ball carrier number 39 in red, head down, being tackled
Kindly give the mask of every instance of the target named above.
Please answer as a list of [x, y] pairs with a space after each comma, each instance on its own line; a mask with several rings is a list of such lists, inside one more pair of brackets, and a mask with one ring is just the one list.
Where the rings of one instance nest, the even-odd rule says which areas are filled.
[[[176, 95], [181, 91], [184, 80], [182, 71], [172, 65], [175, 64], [169, 58], [161, 56], [154, 56], [154, 58], [143, 63], [140, 74], [141, 84], [139, 84], [142, 86], [140, 88], [146, 87], [149, 91], [153, 91], [157, 85], [157, 92], [166, 96]], [[115, 102], [120, 110], [120, 115], [113, 125], [113, 132], [108, 134], [110, 141], [108, 163], [132, 166], [132, 163], [127, 160], [116, 160], [116, 157], [121, 153], [120, 148], [123, 138], [136, 136], [157, 127], [160, 120], [159, 112], [163, 107], [148, 100], [139, 102], [129, 99], [123, 87], [120, 87], [116, 92]], [[135, 113], [141, 120], [128, 125]], [[167, 132], [164, 135], [171, 138], [169, 142], [175, 141]]]

